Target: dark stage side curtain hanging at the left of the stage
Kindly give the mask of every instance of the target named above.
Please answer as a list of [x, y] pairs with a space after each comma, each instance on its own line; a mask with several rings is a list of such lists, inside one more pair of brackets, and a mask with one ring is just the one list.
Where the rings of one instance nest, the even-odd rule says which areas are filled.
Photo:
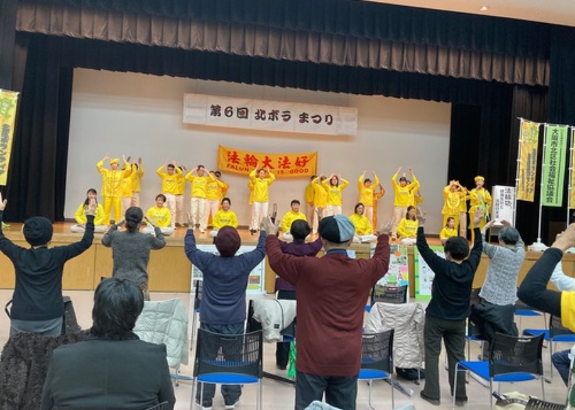
[[[64, 220], [71, 66], [49, 38], [16, 36], [14, 88], [21, 92], [6, 198], [5, 219]], [[23, 75], [22, 75], [23, 73]]]

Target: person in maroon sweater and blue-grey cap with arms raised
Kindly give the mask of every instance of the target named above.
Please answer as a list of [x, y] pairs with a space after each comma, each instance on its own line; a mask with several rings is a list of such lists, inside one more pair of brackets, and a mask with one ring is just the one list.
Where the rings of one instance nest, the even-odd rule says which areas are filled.
[[389, 226], [378, 229], [382, 234], [372, 259], [351, 259], [346, 249], [353, 223], [343, 215], [323, 218], [319, 233], [326, 254], [317, 258], [283, 253], [278, 227], [264, 220], [270, 266], [296, 287], [296, 410], [322, 400], [324, 393], [329, 405], [355, 410], [363, 308], [389, 266]]

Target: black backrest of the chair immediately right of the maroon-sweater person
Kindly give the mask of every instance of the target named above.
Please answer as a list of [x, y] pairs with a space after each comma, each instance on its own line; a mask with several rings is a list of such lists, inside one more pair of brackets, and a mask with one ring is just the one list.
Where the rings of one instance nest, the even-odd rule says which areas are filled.
[[394, 329], [379, 333], [363, 333], [361, 368], [393, 372]]

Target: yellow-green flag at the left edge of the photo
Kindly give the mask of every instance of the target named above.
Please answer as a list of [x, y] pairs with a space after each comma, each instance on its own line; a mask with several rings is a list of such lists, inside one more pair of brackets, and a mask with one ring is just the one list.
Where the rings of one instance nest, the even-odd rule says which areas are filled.
[[0, 88], [0, 185], [6, 185], [8, 180], [18, 94]]

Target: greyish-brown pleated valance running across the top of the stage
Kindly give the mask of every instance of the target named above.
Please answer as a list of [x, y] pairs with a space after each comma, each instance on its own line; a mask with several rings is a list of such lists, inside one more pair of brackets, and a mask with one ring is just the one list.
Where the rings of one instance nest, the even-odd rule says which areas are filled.
[[23, 3], [18, 31], [405, 73], [548, 84], [548, 62], [431, 44]]

